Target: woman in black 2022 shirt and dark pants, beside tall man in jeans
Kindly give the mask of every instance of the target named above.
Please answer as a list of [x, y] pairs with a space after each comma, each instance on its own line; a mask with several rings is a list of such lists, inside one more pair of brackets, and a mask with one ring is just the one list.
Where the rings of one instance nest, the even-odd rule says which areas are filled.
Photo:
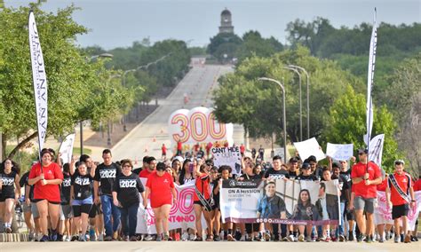
[[138, 209], [140, 203], [139, 193], [142, 200], [145, 199], [145, 188], [137, 174], [131, 172], [133, 165], [130, 160], [122, 161], [123, 173], [115, 179], [113, 187], [113, 202], [120, 208], [122, 213], [122, 225], [124, 240], [136, 241], [136, 225], [138, 224]]

